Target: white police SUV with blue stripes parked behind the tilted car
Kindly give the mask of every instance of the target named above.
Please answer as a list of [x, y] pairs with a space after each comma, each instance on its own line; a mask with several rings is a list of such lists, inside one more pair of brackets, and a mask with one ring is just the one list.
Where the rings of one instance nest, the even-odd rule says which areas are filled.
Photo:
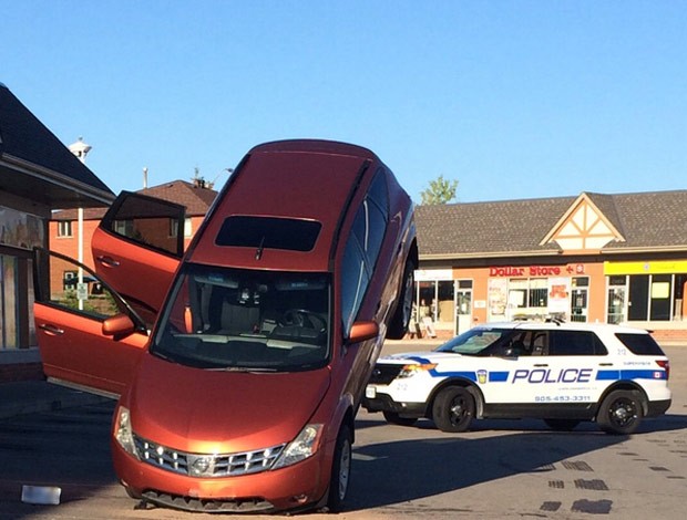
[[435, 351], [381, 357], [362, 406], [393, 424], [443, 431], [476, 418], [542, 418], [561, 430], [596, 420], [632, 434], [670, 406], [669, 363], [648, 332], [606, 324], [475, 326]]

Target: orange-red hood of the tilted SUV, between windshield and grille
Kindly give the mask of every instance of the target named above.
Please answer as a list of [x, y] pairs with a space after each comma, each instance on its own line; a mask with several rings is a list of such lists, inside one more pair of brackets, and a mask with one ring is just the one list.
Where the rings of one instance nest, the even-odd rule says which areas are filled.
[[228, 454], [293, 440], [329, 383], [327, 367], [214, 372], [145, 354], [123, 403], [140, 437], [188, 453]]

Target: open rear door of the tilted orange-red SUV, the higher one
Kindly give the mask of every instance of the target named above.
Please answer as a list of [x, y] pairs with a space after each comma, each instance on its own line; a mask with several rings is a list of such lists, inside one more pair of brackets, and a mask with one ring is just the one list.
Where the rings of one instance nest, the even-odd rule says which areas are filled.
[[184, 207], [122, 191], [91, 248], [98, 275], [151, 327], [184, 254]]

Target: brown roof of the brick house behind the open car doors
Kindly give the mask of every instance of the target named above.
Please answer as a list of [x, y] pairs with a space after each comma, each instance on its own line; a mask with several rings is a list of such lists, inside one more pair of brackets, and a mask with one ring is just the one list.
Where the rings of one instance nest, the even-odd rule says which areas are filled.
[[[186, 217], [205, 216], [217, 196], [217, 191], [214, 189], [201, 188], [185, 180], [173, 180], [171, 183], [161, 184], [160, 186], [140, 189], [136, 193], [180, 204], [186, 208]], [[86, 208], [83, 211], [83, 218], [84, 220], [101, 220], [106, 211], [106, 208]], [[75, 209], [55, 211], [52, 216], [52, 220], [75, 219]]]

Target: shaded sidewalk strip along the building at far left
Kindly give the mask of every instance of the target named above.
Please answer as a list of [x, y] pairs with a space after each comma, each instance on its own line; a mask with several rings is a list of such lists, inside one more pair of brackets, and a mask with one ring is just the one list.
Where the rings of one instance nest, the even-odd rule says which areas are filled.
[[0, 383], [0, 420], [107, 401], [111, 399], [45, 381]]

